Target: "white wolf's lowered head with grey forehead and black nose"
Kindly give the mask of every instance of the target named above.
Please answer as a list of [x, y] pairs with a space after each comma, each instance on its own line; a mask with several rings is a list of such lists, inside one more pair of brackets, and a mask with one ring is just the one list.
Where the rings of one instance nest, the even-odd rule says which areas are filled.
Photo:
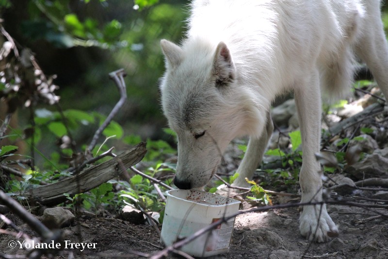
[[[206, 185], [221, 163], [228, 143], [241, 135], [259, 135], [264, 122], [249, 87], [225, 43], [188, 41], [179, 47], [161, 41], [166, 60], [162, 108], [178, 136], [174, 184], [179, 189]], [[264, 115], [265, 116], [265, 115]]]

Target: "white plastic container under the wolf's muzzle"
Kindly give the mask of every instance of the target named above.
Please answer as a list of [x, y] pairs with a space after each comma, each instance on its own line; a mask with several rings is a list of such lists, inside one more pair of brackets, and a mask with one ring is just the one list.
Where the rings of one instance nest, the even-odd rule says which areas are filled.
[[[232, 215], [240, 202], [199, 190], [169, 190], [162, 225], [161, 241], [171, 245], [196, 231]], [[194, 256], [208, 257], [227, 253], [235, 218], [182, 246], [179, 250]]]

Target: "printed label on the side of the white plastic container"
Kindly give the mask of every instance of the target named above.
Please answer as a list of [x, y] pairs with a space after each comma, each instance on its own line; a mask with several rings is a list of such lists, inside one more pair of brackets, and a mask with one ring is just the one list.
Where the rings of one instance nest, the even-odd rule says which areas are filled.
[[[229, 219], [227, 222], [223, 222], [213, 229], [210, 234], [210, 240], [207, 242], [206, 251], [214, 251], [219, 249], [225, 249], [230, 246], [230, 242], [233, 234], [234, 219]], [[213, 219], [211, 223], [217, 222], [221, 219]]]

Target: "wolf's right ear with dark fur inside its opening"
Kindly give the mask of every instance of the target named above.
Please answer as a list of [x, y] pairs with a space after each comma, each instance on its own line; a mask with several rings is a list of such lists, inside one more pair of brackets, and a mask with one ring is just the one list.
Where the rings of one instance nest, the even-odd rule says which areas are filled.
[[229, 49], [224, 42], [218, 43], [213, 61], [213, 76], [216, 86], [225, 86], [233, 81], [235, 76], [235, 67], [230, 55]]

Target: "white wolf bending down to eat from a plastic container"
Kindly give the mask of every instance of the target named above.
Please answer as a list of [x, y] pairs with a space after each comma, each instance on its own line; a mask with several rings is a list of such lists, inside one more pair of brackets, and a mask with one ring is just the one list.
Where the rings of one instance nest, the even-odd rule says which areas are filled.
[[[178, 135], [180, 189], [208, 183], [233, 138], [249, 135], [235, 185], [252, 177], [273, 131], [271, 102], [292, 90], [302, 134], [302, 202], [322, 201], [321, 89], [352, 84], [356, 54], [388, 99], [388, 45], [379, 0], [194, 0], [180, 46], [162, 40], [162, 107]], [[338, 229], [307, 206], [301, 234], [325, 242]]]

